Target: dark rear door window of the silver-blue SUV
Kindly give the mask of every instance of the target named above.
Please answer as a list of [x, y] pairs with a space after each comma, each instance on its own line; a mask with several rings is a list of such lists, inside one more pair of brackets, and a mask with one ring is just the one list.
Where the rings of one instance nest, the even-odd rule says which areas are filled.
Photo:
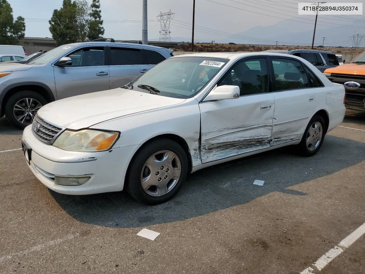
[[111, 47], [109, 65], [148, 65], [143, 49]]

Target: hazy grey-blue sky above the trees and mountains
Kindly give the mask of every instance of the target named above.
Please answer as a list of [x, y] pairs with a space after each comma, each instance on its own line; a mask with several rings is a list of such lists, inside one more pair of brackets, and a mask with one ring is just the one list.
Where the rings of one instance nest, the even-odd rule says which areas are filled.
[[[221, 3], [212, 3], [212, 1]], [[27, 37], [51, 37], [48, 20], [53, 10], [62, 6], [62, 0], [8, 0], [13, 8], [14, 18], [21, 15], [26, 18]], [[91, 3], [91, 0], [88, 0]], [[207, 29], [223, 31], [227, 33], [240, 33], [255, 26], [268, 26], [284, 19], [298, 18], [297, 3], [306, 2], [299, 0], [196, 0], [195, 6], [195, 37], [214, 39], [219, 42], [222, 36], [207, 34]], [[307, 1], [308, 2], [308, 1]], [[327, 1], [329, 2], [329, 1]], [[349, 2], [349, 0], [331, 0], [331, 3]], [[362, 2], [351, 0], [351, 2]], [[35, 4], [37, 3], [37, 4]], [[191, 37], [192, 0], [148, 0], [148, 38], [159, 38], [160, 22], [156, 16], [160, 12], [168, 12], [170, 9], [175, 13], [171, 21], [171, 37]], [[104, 37], [115, 39], [142, 39], [142, 0], [100, 0], [101, 14], [104, 20]], [[224, 5], [222, 5], [224, 4]], [[227, 6], [225, 6], [227, 5]], [[228, 7], [232, 6], [232, 7]], [[245, 11], [246, 9], [249, 11]], [[257, 13], [276, 16], [260, 15]], [[354, 26], [365, 26], [364, 17], [348, 15], [346, 19], [333, 16], [323, 16], [319, 24], [331, 23]], [[364, 23], [351, 22], [351, 18], [364, 20]], [[121, 20], [138, 20], [137, 22], [120, 22]], [[109, 21], [109, 22], [108, 22]], [[314, 16], [313, 16], [314, 21]], [[321, 23], [322, 22], [322, 23]], [[308, 30], [312, 24], [306, 24]], [[324, 26], [319, 26], [323, 27]], [[364, 28], [361, 28], [361, 31]], [[203, 31], [203, 32], [202, 32]], [[364, 32], [365, 34], [365, 32]], [[244, 42], [244, 41], [242, 41]]]

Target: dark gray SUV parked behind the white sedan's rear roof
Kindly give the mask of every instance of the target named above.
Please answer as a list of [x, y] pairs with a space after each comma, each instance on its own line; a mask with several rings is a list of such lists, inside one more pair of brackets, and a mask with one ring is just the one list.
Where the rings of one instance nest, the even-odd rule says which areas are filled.
[[264, 52], [277, 52], [277, 53], [286, 53], [294, 56], [301, 57], [316, 68], [319, 71], [324, 72], [327, 68], [334, 68], [338, 66], [338, 60], [336, 55], [333, 52], [326, 52], [324, 50], [310, 50], [310, 49], [295, 49], [295, 50], [264, 50]]

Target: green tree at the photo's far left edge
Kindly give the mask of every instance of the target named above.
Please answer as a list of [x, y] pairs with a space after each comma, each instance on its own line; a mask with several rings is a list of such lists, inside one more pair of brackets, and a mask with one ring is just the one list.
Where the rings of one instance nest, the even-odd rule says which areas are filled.
[[22, 16], [14, 21], [13, 9], [6, 0], [0, 0], [0, 44], [16, 45], [24, 38], [25, 23]]

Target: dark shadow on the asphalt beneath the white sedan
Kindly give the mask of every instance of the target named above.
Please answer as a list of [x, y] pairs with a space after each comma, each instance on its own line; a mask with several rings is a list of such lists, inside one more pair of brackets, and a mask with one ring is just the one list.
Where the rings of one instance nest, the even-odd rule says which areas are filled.
[[[289, 146], [197, 171], [188, 176], [173, 199], [156, 206], [135, 202], [125, 191], [77, 196], [50, 192], [66, 213], [81, 222], [103, 227], [145, 227], [242, 205], [274, 191], [307, 195], [287, 187], [365, 160], [365, 153], [359, 153], [364, 152], [363, 143], [328, 135], [312, 157], [297, 156], [292, 151]], [[255, 179], [264, 180], [264, 185], [253, 185]]]

